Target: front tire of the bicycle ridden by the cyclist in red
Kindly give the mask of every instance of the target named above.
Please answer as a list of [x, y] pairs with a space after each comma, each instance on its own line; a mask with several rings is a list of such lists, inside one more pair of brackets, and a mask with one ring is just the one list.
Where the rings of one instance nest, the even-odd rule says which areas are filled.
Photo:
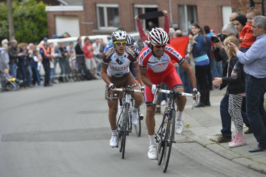
[[167, 121], [167, 127], [165, 132], [165, 144], [164, 144], [163, 166], [162, 166], [164, 173], [166, 172], [168, 167], [174, 133], [175, 133], [175, 110], [172, 110], [171, 118]]

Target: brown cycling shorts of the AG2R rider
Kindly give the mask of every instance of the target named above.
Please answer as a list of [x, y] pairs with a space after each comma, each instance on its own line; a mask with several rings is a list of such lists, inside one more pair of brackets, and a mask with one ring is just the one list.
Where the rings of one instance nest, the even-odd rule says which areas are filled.
[[[139, 87], [139, 84], [131, 74], [131, 72], [123, 75], [122, 77], [110, 77], [108, 76], [110, 81], [115, 85], [116, 88], [126, 88], [127, 86], [130, 86], [131, 89], [134, 87]], [[108, 86], [107, 86], [108, 87]], [[140, 90], [140, 89], [139, 89]], [[120, 91], [115, 91], [113, 92], [113, 100], [112, 101], [117, 101], [118, 96], [119, 96]], [[107, 93], [107, 101], [110, 102], [110, 92], [108, 91]]]

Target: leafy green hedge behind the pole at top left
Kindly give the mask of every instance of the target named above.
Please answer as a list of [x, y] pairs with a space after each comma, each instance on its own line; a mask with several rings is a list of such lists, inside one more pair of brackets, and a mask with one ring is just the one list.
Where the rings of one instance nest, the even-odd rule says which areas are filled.
[[[19, 42], [39, 42], [48, 35], [47, 16], [42, 1], [13, 0], [13, 21], [15, 39]], [[0, 3], [0, 38], [8, 35], [8, 8], [6, 3]]]

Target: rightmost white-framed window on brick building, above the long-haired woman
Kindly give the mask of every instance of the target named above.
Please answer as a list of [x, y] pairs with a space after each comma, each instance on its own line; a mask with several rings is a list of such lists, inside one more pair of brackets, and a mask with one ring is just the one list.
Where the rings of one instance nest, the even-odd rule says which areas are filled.
[[197, 22], [197, 6], [178, 5], [179, 27], [187, 35], [192, 28], [192, 23]]

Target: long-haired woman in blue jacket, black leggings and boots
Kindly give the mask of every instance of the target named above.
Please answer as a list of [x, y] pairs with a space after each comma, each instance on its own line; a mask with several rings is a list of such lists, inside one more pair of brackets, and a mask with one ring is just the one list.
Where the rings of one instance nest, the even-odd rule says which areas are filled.
[[210, 106], [210, 89], [207, 83], [207, 69], [209, 66], [209, 57], [207, 55], [206, 40], [203, 36], [203, 30], [199, 23], [192, 23], [192, 33], [188, 38], [192, 44], [192, 55], [195, 62], [196, 78], [200, 87], [200, 102], [196, 107]]

